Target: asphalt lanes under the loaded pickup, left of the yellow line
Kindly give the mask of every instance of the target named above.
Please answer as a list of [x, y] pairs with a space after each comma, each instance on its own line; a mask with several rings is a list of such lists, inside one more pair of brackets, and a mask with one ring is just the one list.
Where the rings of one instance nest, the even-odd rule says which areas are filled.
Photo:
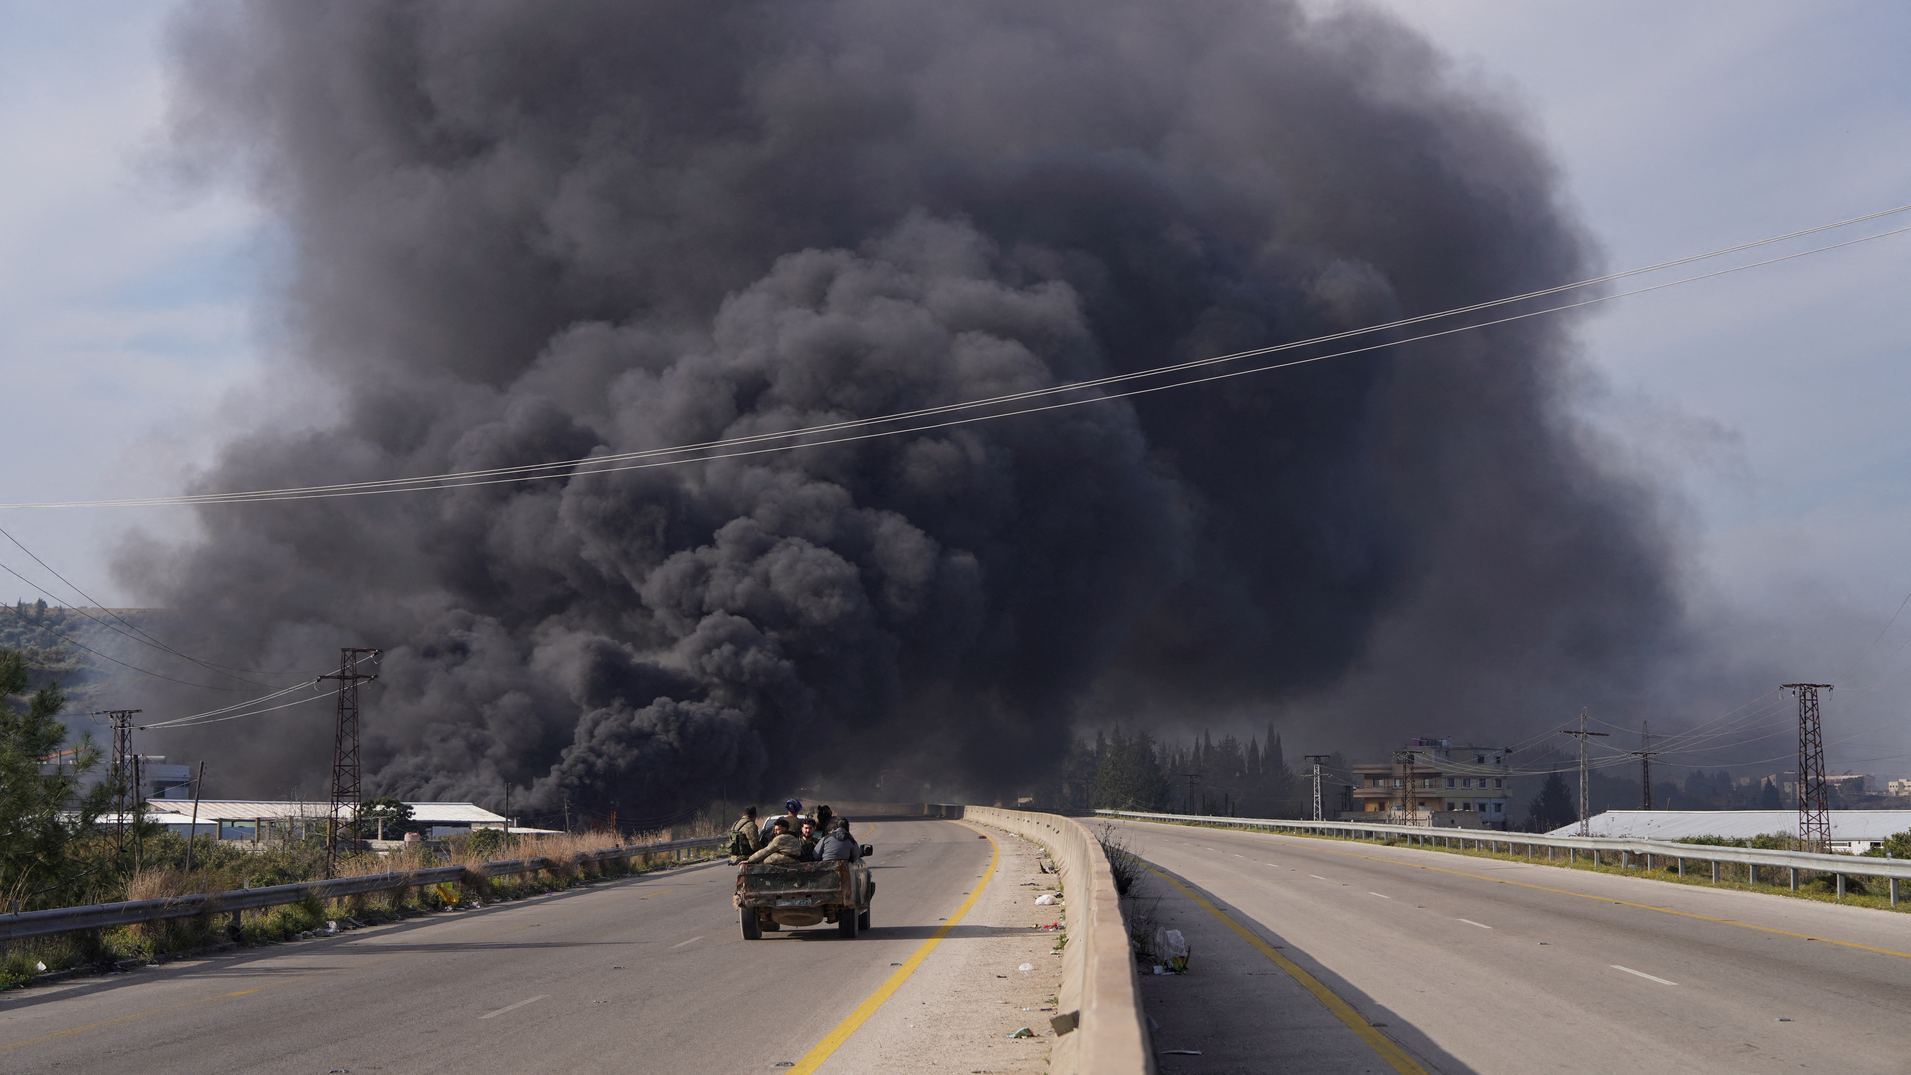
[[992, 861], [992, 844], [954, 823], [858, 836], [877, 847], [877, 893], [854, 941], [835, 926], [743, 941], [732, 868], [690, 867], [4, 993], [0, 1071], [784, 1071]]

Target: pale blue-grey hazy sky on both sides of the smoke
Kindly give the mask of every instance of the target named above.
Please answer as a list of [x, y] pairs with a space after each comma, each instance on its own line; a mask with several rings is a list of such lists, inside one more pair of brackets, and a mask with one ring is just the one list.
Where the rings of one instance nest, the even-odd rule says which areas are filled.
[[[1609, 268], [1911, 203], [1911, 4], [1385, 8], [1531, 117]], [[155, 166], [168, 10], [0, 0], [0, 501], [174, 492], [222, 427], [302, 406], [258, 363], [271, 224]], [[1911, 771], [1894, 757], [1911, 752], [1911, 650], [1882, 660], [1911, 614], [1842, 679], [1911, 591], [1907, 281], [1900, 235], [1624, 298], [1582, 333], [1603, 379], [1584, 413], [1686, 497], [1697, 614], [1794, 647], [1798, 677], [1869, 687], [1846, 713], [1869, 723], [1829, 706], [1827, 738], [1898, 725], [1835, 744], [1835, 769]], [[10, 511], [0, 526], [118, 601], [118, 536], [189, 520]], [[0, 543], [0, 564], [21, 560]], [[0, 597], [34, 597], [0, 578]]]

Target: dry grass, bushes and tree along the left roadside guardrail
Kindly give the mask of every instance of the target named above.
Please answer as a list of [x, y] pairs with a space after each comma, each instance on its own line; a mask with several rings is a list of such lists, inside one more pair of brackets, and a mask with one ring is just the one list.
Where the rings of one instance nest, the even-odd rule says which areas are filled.
[[[54, 681], [34, 685], [36, 669], [29, 656], [0, 648], [0, 912], [269, 888], [323, 874], [323, 836], [266, 845], [199, 836], [187, 844], [143, 819], [128, 824], [122, 838], [107, 832], [99, 821], [111, 807], [115, 788], [99, 782], [80, 792], [82, 777], [103, 763], [101, 750], [86, 735], [69, 740], [59, 719], [67, 698]], [[111, 968], [128, 960], [143, 964], [229, 943], [287, 941], [661, 868], [675, 859], [659, 855], [657, 863], [650, 863], [648, 855], [636, 855], [594, 863], [587, 861], [587, 853], [617, 844], [719, 836], [728, 830], [728, 821], [724, 805], [663, 832], [512, 836], [482, 828], [394, 853], [357, 853], [338, 863], [340, 876], [482, 867], [506, 859], [548, 859], [550, 865], [501, 878], [468, 868], [453, 884], [13, 941], [0, 945], [0, 989], [25, 985], [36, 974]], [[397, 800], [371, 800], [348, 838], [367, 840], [378, 832], [396, 838], [417, 828], [409, 823], [409, 807]]]

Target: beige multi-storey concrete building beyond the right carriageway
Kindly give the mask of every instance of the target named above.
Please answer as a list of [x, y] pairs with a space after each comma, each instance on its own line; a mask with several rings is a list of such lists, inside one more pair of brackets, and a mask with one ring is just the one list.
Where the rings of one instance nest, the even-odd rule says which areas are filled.
[[[1372, 821], [1387, 813], [1393, 824], [1439, 828], [1506, 828], [1506, 752], [1492, 746], [1456, 746], [1450, 738], [1410, 738], [1401, 748], [1408, 761], [1353, 765], [1357, 809], [1343, 819]], [[1408, 779], [1412, 788], [1406, 786]]]

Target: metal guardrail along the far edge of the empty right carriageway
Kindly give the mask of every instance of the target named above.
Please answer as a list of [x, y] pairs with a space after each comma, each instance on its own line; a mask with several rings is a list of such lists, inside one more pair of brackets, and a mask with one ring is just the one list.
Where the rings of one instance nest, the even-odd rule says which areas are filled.
[[[1290, 819], [1269, 819], [1269, 817], [1202, 817], [1191, 813], [1139, 813], [1122, 809], [1099, 809], [1099, 817], [1133, 817], [1139, 821], [1173, 821], [1173, 823], [1194, 823], [1206, 826], [1221, 828], [1259, 828], [1259, 830], [1296, 830], [1296, 832], [1321, 832], [1321, 834], [1343, 834], [1355, 840], [1374, 840], [1378, 836], [1406, 836], [1408, 842], [1420, 842], [1426, 845], [1458, 845], [1466, 847], [1473, 844], [1475, 847], [1498, 849], [1500, 844], [1512, 847], [1546, 847], [1548, 861], [1552, 861], [1552, 851], [1569, 851], [1575, 859], [1580, 851], [1590, 851], [1594, 865], [1600, 865], [1601, 855], [1621, 855], [1621, 865], [1630, 865], [1626, 855], [1642, 855], [1645, 859], [1645, 868], [1653, 868], [1653, 859], [1674, 859], [1678, 870], [1684, 876], [1686, 863], [1729, 863], [1735, 867], [1749, 868], [1779, 868], [1791, 870], [1791, 884], [1798, 888], [1798, 870], [1814, 874], [1835, 874], [1838, 878], [1838, 893], [1844, 893], [1844, 878], [1888, 878], [1892, 907], [1898, 905], [1898, 888], [1901, 880], [1911, 880], [1911, 859], [1867, 859], [1861, 855], [1817, 855], [1812, 851], [1768, 851], [1762, 847], [1722, 847], [1714, 844], [1680, 844], [1676, 840], [1634, 840], [1619, 836], [1540, 836], [1536, 832], [1496, 832], [1491, 828], [1433, 828], [1426, 824], [1370, 824], [1364, 821], [1290, 821]], [[1718, 880], [1718, 870], [1712, 872], [1712, 880]]]

